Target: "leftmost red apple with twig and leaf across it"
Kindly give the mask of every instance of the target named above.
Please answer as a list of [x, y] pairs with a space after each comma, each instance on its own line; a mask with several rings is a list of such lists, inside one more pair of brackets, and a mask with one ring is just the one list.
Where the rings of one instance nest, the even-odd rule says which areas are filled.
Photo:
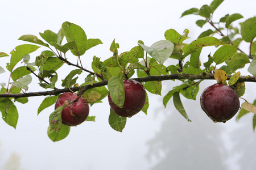
[[67, 105], [61, 112], [62, 123], [68, 126], [77, 126], [86, 120], [89, 115], [89, 105], [87, 101], [80, 97], [75, 103], [71, 103], [77, 95], [65, 92], [60, 95], [55, 103], [55, 109], [64, 103]]

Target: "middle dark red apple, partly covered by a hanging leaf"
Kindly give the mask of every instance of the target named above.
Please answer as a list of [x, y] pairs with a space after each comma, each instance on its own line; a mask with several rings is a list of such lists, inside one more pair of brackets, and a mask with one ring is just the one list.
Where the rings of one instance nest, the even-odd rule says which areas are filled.
[[123, 107], [119, 108], [108, 95], [109, 105], [112, 110], [122, 117], [132, 117], [137, 114], [145, 105], [146, 90], [140, 82], [135, 80], [123, 80], [125, 86], [125, 102]]

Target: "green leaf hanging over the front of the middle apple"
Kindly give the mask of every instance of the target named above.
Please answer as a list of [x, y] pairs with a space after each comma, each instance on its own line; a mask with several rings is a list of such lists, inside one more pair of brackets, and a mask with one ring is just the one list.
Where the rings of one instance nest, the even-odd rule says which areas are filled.
[[109, 93], [112, 101], [119, 108], [123, 107], [125, 102], [125, 87], [121, 76], [113, 76], [108, 82]]

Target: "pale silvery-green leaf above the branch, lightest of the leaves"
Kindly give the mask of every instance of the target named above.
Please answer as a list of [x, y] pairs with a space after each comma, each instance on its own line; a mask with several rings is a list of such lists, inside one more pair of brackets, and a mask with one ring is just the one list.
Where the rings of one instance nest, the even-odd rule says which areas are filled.
[[150, 47], [143, 44], [139, 45], [160, 64], [164, 63], [171, 56], [172, 50], [174, 50], [174, 44], [168, 40], [160, 40]]

